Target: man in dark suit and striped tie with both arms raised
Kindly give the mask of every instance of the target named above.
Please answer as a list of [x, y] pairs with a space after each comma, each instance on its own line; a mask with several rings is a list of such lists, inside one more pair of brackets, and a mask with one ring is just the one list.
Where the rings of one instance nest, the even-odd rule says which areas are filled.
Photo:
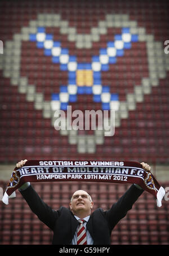
[[[25, 162], [26, 159], [21, 160], [16, 167], [23, 167]], [[141, 164], [145, 171], [150, 171], [148, 164]], [[25, 183], [19, 190], [34, 214], [54, 232], [52, 244], [55, 245], [75, 245], [79, 241], [79, 244], [88, 245], [110, 244], [113, 228], [144, 191], [139, 185], [132, 184], [109, 210], [99, 208], [91, 214], [94, 202], [84, 190], [74, 192], [70, 209], [60, 207], [59, 210], [51, 209], [43, 202], [30, 183]]]

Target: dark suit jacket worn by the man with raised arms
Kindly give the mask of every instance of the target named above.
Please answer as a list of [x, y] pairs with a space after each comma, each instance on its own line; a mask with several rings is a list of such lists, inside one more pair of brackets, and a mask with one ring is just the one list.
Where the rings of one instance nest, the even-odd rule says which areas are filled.
[[[113, 204], [111, 209], [104, 211], [99, 208], [92, 212], [86, 227], [95, 245], [110, 244], [111, 232], [114, 226], [119, 220], [124, 218], [127, 211], [132, 208], [132, 205], [143, 191], [144, 190], [137, 189], [135, 185], [131, 185], [127, 192], [119, 198], [118, 202]], [[32, 185], [26, 190], [21, 191], [21, 194], [34, 214], [54, 231], [52, 244], [70, 245], [78, 226], [78, 221], [75, 219], [72, 211], [65, 207], [60, 207], [57, 211], [51, 209], [51, 207], [38, 196]]]

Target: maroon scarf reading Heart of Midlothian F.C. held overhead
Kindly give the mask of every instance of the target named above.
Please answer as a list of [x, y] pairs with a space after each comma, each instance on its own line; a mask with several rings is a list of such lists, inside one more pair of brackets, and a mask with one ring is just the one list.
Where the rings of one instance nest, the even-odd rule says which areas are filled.
[[165, 190], [151, 172], [146, 172], [140, 163], [95, 160], [28, 160], [23, 168], [12, 172], [2, 201], [8, 204], [15, 197], [15, 190], [30, 182], [45, 181], [97, 181], [108, 183], [130, 183], [141, 186], [157, 198], [161, 207]]

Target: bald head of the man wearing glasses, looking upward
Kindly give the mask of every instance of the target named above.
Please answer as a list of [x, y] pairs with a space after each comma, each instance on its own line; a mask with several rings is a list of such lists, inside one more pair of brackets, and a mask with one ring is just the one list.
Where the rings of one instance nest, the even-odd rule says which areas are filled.
[[74, 215], [79, 216], [79, 218], [85, 218], [85, 216], [91, 214], [94, 203], [86, 191], [77, 190], [73, 193], [69, 206]]

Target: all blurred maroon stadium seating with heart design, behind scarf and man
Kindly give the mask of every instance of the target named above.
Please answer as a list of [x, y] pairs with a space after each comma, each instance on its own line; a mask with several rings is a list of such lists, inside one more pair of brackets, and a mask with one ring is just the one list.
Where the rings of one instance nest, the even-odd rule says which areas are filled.
[[[168, 10], [167, 0], [1, 0], [0, 164], [25, 158], [168, 164], [169, 61], [163, 52], [169, 39]], [[116, 59], [108, 58], [108, 45], [128, 28], [130, 36], [133, 33], [131, 49], [125, 44], [128, 48], [118, 49]], [[44, 29], [49, 40], [43, 45]], [[51, 36], [58, 46], [52, 51]], [[66, 66], [69, 57], [72, 62]], [[56, 131], [54, 110], [65, 109], [68, 92], [72, 110], [115, 109], [114, 136], [98, 130]], [[5, 189], [1, 172], [0, 186]], [[92, 194], [94, 209], [108, 209], [128, 186], [34, 187], [54, 209], [68, 206], [78, 188]], [[51, 244], [51, 231], [30, 212], [19, 192], [10, 205], [0, 203], [0, 209], [0, 244]], [[157, 209], [145, 192], [114, 228], [112, 244], [169, 244], [168, 211], [167, 201]]]

